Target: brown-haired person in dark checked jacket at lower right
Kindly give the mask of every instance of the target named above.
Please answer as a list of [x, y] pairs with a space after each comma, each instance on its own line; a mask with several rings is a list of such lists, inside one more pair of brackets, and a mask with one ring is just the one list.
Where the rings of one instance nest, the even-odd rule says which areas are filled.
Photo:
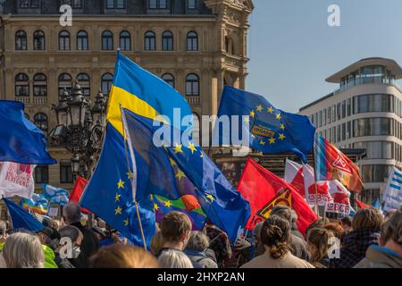
[[378, 245], [381, 236], [383, 217], [381, 212], [373, 207], [357, 211], [352, 221], [353, 231], [343, 240], [339, 258], [333, 258], [331, 268], [352, 268], [365, 257], [367, 248]]

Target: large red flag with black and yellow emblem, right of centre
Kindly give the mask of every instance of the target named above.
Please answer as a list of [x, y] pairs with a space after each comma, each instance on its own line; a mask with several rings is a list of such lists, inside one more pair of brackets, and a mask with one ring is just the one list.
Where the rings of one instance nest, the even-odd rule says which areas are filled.
[[307, 205], [306, 200], [300, 196], [297, 189], [264, 169], [251, 158], [247, 160], [238, 189], [243, 198], [246, 198], [250, 203], [251, 216], [246, 225], [248, 230], [253, 230], [256, 223], [264, 221], [265, 217], [261, 215], [264, 214], [264, 209], [272, 205], [272, 199], [276, 195], [287, 191], [291, 195], [291, 199], [287, 199], [287, 201], [291, 202], [291, 207], [297, 213], [296, 223], [300, 232], [305, 233], [306, 228], [317, 220], [317, 215]]

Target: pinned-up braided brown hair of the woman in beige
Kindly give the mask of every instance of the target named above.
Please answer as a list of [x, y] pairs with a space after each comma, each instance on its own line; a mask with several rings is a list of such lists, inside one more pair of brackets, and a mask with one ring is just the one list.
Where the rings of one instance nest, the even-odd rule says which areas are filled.
[[261, 241], [273, 259], [284, 257], [289, 250], [290, 224], [279, 215], [271, 215], [263, 224]]

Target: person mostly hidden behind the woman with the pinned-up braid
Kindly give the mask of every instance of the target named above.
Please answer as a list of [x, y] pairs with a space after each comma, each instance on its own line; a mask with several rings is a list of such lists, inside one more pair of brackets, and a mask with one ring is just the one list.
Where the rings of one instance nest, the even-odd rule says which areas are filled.
[[[286, 219], [290, 225], [292, 225], [292, 212], [289, 206], [274, 206], [272, 208], [270, 215], [280, 215], [284, 219]], [[297, 235], [291, 232], [290, 240], [289, 240], [290, 251], [295, 257], [299, 257], [304, 260], [308, 260], [310, 258], [310, 254], [307, 251], [306, 241], [304, 239], [300, 239]]]

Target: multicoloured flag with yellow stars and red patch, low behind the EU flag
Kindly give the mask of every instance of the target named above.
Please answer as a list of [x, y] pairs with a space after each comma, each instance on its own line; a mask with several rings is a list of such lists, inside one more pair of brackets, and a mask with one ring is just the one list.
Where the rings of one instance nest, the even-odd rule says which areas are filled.
[[155, 196], [154, 208], [155, 208], [156, 222], [161, 223], [164, 214], [169, 214], [173, 211], [178, 211], [180, 213], [188, 215], [188, 218], [193, 224], [193, 231], [201, 231], [204, 228], [206, 222], [206, 215], [204, 214], [199, 204], [197, 204], [198, 206], [195, 209], [191, 209], [192, 208], [191, 206], [188, 207], [188, 200], [197, 202], [197, 198], [195, 197], [188, 198], [188, 197], [193, 196], [187, 195], [177, 200], [170, 200], [160, 196]]

